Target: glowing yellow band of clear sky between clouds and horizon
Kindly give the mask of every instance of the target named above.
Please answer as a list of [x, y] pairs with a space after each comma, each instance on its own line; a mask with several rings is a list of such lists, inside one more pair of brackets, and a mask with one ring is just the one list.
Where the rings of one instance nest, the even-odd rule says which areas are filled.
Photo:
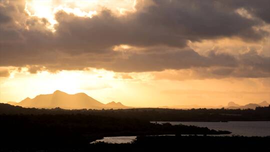
[[[128, 77], [126, 76], [128, 75]], [[55, 90], [84, 92], [100, 102], [120, 101], [128, 106], [226, 105], [269, 100], [267, 78], [156, 79], [154, 73], [114, 73], [90, 69], [35, 74], [13, 71], [0, 80], [0, 101], [20, 101]]]

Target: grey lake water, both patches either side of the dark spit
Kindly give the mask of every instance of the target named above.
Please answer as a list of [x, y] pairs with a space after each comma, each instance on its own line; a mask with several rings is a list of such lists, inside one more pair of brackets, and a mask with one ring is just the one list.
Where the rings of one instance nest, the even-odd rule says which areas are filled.
[[[228, 122], [185, 122], [185, 121], [157, 121], [157, 123], [169, 122], [172, 125], [184, 124], [208, 127], [215, 130], [228, 130], [229, 135], [243, 136], [270, 136], [270, 121], [228, 121]], [[153, 121], [155, 123], [155, 121]], [[171, 135], [171, 134], [170, 134]], [[228, 135], [228, 134], [225, 134]], [[103, 141], [107, 143], [128, 143], [132, 142], [136, 136], [107, 136], [93, 142]], [[93, 143], [91, 142], [91, 143]]]

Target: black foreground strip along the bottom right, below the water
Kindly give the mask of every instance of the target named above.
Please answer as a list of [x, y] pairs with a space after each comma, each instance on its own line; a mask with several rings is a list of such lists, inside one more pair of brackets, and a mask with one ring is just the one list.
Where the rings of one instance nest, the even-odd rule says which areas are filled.
[[130, 144], [99, 142], [88, 149], [101, 151], [270, 151], [270, 137], [138, 136]]

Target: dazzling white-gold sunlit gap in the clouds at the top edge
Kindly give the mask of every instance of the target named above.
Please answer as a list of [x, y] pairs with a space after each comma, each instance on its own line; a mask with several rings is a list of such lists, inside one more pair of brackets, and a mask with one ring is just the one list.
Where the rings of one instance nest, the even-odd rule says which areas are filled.
[[92, 17], [97, 14], [97, 11], [103, 8], [114, 10], [119, 15], [125, 14], [128, 11], [134, 11], [135, 0], [62, 0], [55, 2], [53, 0], [26, 0], [25, 12], [29, 16], [36, 16], [39, 18], [46, 18], [49, 22], [47, 28], [55, 31], [54, 24], [57, 21], [54, 15], [58, 11], [65, 11], [73, 13], [80, 17]]

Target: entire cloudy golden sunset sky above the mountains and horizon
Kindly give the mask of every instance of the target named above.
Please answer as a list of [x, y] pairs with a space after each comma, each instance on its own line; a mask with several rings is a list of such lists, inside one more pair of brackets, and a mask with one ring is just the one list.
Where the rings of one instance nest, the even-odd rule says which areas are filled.
[[270, 102], [269, 0], [0, 0], [0, 102]]

